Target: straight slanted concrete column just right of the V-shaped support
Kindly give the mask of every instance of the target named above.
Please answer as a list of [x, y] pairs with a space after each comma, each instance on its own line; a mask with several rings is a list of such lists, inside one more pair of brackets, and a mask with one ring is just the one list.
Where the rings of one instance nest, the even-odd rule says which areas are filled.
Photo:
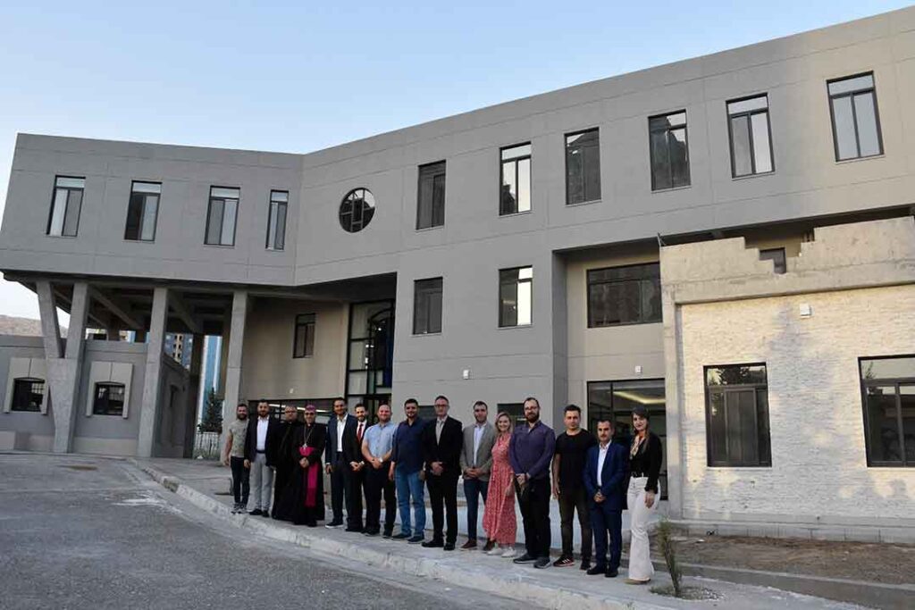
[[153, 292], [153, 312], [149, 322], [149, 341], [146, 343], [146, 370], [143, 378], [143, 403], [140, 407], [140, 433], [136, 455], [152, 457], [159, 420], [159, 388], [162, 385], [162, 354], [165, 350], [168, 317], [168, 289], [156, 288]]

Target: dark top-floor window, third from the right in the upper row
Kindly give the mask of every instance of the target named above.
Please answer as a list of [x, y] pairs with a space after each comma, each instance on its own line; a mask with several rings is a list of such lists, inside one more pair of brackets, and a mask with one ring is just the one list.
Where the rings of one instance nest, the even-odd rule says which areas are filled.
[[686, 111], [648, 120], [651, 150], [651, 190], [689, 186], [689, 147]]

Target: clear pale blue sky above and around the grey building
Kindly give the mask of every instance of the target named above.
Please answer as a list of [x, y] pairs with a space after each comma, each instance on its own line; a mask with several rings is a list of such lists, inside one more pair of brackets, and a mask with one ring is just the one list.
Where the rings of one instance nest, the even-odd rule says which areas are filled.
[[5, 0], [0, 206], [19, 132], [304, 153], [909, 4]]

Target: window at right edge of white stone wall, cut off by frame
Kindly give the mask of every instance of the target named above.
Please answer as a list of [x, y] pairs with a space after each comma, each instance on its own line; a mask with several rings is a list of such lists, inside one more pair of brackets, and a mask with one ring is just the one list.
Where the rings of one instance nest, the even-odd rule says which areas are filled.
[[915, 466], [915, 355], [860, 367], [867, 466]]

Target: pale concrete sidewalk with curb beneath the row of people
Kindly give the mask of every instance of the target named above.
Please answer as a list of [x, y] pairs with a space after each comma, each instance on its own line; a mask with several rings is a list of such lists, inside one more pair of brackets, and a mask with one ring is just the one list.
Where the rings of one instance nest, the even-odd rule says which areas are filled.
[[[298, 528], [285, 522], [247, 515], [231, 515], [228, 471], [211, 462], [192, 460], [136, 460], [137, 466], [160, 484], [195, 506], [274, 540], [284, 540], [319, 553], [367, 562], [399, 573], [432, 578], [443, 583], [470, 586], [484, 592], [508, 595], [550, 608], [686, 608], [696, 604], [763, 610], [770, 608], [851, 608], [852, 605], [777, 589], [707, 579], [687, 578], [686, 584], [713, 590], [711, 602], [689, 602], [652, 594], [649, 587], [617, 579], [587, 577], [577, 569], [534, 570], [480, 552], [423, 549], [404, 542], [367, 538], [325, 528]], [[653, 584], [667, 584], [664, 573]], [[915, 588], [910, 593], [915, 594]], [[905, 607], [885, 605], [882, 607]]]

